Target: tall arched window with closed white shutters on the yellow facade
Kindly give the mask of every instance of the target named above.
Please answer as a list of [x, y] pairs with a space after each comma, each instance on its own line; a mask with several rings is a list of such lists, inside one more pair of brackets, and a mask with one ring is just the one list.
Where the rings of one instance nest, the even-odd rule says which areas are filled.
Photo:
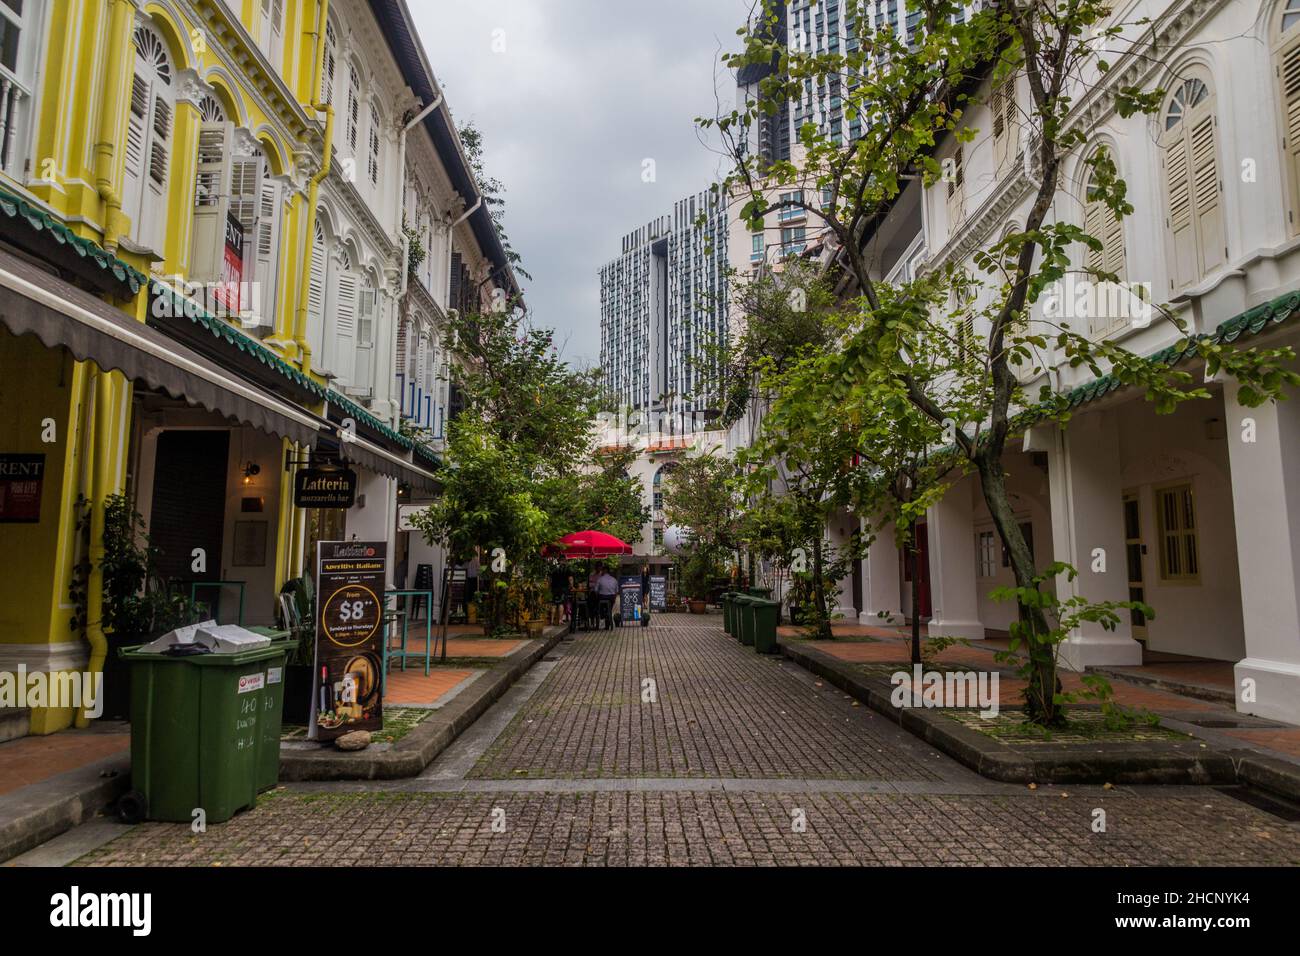
[[131, 217], [133, 237], [161, 251], [166, 238], [168, 165], [176, 90], [172, 57], [157, 30], [135, 29], [135, 72], [126, 126], [126, 176], [122, 212]]

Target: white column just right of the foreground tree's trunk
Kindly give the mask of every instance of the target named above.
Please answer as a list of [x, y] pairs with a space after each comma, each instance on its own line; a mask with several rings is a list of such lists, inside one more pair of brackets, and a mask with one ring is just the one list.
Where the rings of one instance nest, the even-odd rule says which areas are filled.
[[[1026, 451], [1048, 454], [1052, 557], [1079, 572], [1072, 581], [1067, 575], [1057, 578], [1057, 597], [1066, 601], [1082, 594], [1089, 601], [1127, 601], [1124, 496], [1115, 412], [1080, 415], [1065, 429], [1035, 428], [1024, 444]], [[1061, 645], [1062, 663], [1075, 671], [1140, 665], [1141, 644], [1134, 640], [1128, 613], [1119, 611], [1119, 618], [1114, 631], [1093, 623], [1074, 628]]]

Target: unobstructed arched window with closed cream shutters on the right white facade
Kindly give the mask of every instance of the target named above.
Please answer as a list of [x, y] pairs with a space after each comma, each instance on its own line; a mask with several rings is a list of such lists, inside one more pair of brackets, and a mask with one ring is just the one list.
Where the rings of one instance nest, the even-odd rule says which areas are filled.
[[1161, 120], [1173, 291], [1192, 285], [1227, 259], [1209, 74], [1197, 68], [1179, 81]]

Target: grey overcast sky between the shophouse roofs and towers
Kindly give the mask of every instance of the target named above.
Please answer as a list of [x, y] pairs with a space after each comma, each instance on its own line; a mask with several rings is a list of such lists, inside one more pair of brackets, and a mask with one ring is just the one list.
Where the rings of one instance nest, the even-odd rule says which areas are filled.
[[734, 105], [719, 51], [737, 48], [750, 0], [408, 4], [456, 124], [482, 130], [506, 186], [533, 320], [571, 362], [598, 363], [599, 268], [623, 235], [725, 172], [693, 120], [714, 114], [715, 88]]

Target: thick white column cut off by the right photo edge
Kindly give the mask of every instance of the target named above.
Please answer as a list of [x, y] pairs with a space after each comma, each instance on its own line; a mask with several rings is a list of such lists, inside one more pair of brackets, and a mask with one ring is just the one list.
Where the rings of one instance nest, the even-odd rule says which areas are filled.
[[1247, 654], [1236, 709], [1300, 723], [1300, 408], [1243, 407], [1234, 381], [1223, 408]]

